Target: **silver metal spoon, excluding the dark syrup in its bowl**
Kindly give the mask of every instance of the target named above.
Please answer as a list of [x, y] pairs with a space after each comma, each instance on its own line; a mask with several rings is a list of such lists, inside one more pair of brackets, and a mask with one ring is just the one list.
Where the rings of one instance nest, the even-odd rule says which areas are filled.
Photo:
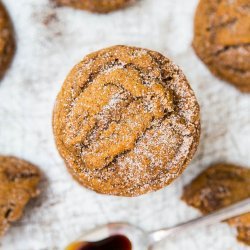
[[113, 235], [124, 235], [131, 241], [133, 250], [147, 250], [152, 249], [157, 243], [171, 235], [196, 227], [209, 226], [248, 212], [250, 212], [250, 198], [206, 216], [178, 224], [171, 228], [164, 228], [152, 232], [145, 232], [141, 228], [129, 223], [109, 223], [86, 233], [77, 239], [77, 242], [96, 242]]

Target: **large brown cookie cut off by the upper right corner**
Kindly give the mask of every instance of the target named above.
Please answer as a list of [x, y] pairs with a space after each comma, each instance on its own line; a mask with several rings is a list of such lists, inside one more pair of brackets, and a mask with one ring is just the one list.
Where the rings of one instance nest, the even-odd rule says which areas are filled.
[[213, 74], [250, 92], [249, 0], [200, 0], [193, 47]]

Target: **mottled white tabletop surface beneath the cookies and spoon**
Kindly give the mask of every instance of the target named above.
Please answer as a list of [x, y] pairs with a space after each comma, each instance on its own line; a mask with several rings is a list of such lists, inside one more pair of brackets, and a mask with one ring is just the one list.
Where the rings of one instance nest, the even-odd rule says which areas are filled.
[[[199, 215], [179, 198], [183, 185], [209, 164], [225, 160], [250, 166], [250, 95], [213, 77], [194, 54], [190, 44], [197, 0], [141, 0], [108, 15], [55, 9], [46, 0], [3, 2], [18, 48], [0, 84], [0, 153], [37, 164], [46, 180], [41, 197], [1, 240], [1, 250], [63, 249], [85, 230], [117, 220], [146, 230], [174, 225]], [[52, 135], [53, 104], [69, 70], [87, 53], [115, 44], [157, 50], [173, 59], [201, 105], [201, 143], [188, 169], [171, 186], [138, 198], [98, 195], [79, 186], [67, 173]], [[177, 235], [161, 249], [247, 249], [234, 235], [235, 230], [219, 224]]]

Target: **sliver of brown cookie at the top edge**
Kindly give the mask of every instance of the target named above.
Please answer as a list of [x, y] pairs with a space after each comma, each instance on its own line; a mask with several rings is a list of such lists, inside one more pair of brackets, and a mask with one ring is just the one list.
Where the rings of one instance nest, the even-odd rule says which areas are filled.
[[53, 0], [56, 4], [91, 12], [108, 13], [126, 7], [134, 0]]

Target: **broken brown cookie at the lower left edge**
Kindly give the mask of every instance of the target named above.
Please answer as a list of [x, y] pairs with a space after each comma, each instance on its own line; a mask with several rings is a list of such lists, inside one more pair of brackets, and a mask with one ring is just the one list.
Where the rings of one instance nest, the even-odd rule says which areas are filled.
[[40, 171], [29, 162], [0, 156], [0, 236], [17, 221], [31, 198], [39, 194]]

